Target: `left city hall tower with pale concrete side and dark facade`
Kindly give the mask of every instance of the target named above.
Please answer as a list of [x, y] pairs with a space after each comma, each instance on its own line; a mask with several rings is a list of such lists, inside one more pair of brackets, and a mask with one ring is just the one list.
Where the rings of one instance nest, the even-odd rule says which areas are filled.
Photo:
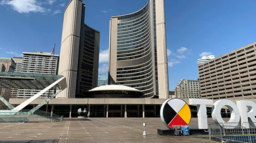
[[85, 3], [71, 0], [64, 12], [59, 75], [67, 88], [56, 98], [75, 98], [97, 87], [100, 32], [84, 24]]

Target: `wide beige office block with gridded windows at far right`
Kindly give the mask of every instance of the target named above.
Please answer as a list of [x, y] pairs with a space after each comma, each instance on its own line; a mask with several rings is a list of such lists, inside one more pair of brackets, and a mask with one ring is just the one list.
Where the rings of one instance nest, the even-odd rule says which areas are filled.
[[204, 99], [256, 98], [256, 42], [198, 65]]

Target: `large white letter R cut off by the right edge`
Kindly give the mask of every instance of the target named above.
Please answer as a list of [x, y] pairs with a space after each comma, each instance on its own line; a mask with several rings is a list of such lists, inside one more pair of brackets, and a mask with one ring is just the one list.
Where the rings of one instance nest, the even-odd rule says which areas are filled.
[[[248, 122], [253, 122], [251, 126], [253, 128], [256, 127], [256, 104], [253, 101], [244, 101], [244, 100], [239, 100], [237, 101], [237, 107], [239, 109], [239, 113], [241, 116], [241, 125], [250, 128]], [[247, 109], [248, 108], [248, 112]]]

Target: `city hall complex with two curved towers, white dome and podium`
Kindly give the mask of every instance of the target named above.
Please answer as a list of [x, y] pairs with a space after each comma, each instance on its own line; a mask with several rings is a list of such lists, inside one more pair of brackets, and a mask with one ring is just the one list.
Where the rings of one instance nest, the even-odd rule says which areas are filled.
[[99, 31], [84, 24], [84, 13], [81, 0], [71, 0], [64, 12], [58, 72], [67, 88], [48, 102], [48, 111], [64, 117], [77, 117], [79, 108], [87, 108], [89, 117], [160, 117], [169, 96], [164, 0], [149, 0], [137, 12], [111, 17], [107, 86], [96, 87]]

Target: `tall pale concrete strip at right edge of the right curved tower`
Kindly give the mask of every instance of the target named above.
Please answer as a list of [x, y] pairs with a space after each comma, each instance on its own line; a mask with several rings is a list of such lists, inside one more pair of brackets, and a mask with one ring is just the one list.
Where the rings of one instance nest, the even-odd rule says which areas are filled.
[[166, 54], [166, 31], [164, 0], [155, 0], [156, 2], [156, 43], [157, 43], [157, 69], [158, 69], [158, 87], [159, 98], [166, 99], [169, 94], [168, 86], [168, 65]]

